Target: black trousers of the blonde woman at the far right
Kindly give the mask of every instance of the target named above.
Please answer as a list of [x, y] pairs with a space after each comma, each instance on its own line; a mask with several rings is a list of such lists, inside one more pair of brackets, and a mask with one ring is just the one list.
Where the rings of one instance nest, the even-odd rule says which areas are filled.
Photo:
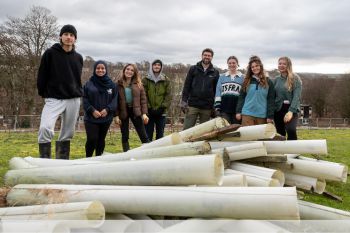
[[277, 133], [282, 136], [286, 136], [287, 140], [297, 140], [297, 124], [298, 124], [298, 114], [293, 113], [292, 119], [288, 123], [284, 123], [284, 116], [288, 112], [289, 104], [283, 104], [281, 110], [275, 112], [275, 126]]

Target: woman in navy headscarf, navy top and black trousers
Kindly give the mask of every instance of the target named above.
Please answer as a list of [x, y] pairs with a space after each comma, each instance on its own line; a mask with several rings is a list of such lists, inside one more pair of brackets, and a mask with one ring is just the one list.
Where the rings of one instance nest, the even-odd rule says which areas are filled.
[[84, 124], [86, 131], [85, 153], [91, 157], [103, 153], [105, 138], [115, 116], [118, 89], [107, 75], [107, 64], [97, 61], [94, 73], [83, 88]]

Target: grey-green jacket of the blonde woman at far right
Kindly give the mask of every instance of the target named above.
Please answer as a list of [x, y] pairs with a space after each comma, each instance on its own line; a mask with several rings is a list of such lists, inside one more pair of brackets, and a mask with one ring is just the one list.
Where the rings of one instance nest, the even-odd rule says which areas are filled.
[[278, 112], [279, 110], [281, 110], [283, 101], [288, 100], [290, 102], [288, 111], [298, 113], [300, 111], [300, 99], [302, 89], [300, 78], [294, 78], [293, 88], [291, 91], [287, 90], [286, 81], [287, 78], [284, 78], [281, 75], [277, 76], [274, 80], [276, 92], [275, 111]]

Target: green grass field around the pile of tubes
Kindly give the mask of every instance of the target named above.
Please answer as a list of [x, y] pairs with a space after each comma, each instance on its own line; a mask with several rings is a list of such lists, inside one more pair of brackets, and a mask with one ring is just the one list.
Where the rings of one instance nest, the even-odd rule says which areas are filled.
[[[350, 166], [350, 129], [302, 129], [298, 131], [299, 139], [327, 139], [328, 155], [321, 159], [344, 163]], [[131, 148], [140, 145], [136, 134], [130, 134]], [[85, 157], [85, 133], [78, 132], [71, 144], [71, 158]], [[53, 146], [54, 149], [54, 146]], [[121, 152], [120, 132], [107, 135], [106, 149], [108, 152]], [[54, 154], [54, 153], [53, 153]], [[28, 132], [1, 132], [0, 133], [0, 186], [3, 176], [8, 170], [8, 161], [14, 156], [38, 156], [37, 134]], [[343, 198], [342, 202], [327, 198], [323, 195], [305, 193], [304, 200], [350, 211], [350, 184], [327, 182], [326, 190]]]

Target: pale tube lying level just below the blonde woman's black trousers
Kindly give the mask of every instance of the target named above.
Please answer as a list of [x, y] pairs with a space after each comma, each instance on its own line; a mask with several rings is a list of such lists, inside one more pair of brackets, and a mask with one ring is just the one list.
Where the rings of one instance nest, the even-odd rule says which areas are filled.
[[268, 154], [327, 154], [326, 140], [264, 141]]

